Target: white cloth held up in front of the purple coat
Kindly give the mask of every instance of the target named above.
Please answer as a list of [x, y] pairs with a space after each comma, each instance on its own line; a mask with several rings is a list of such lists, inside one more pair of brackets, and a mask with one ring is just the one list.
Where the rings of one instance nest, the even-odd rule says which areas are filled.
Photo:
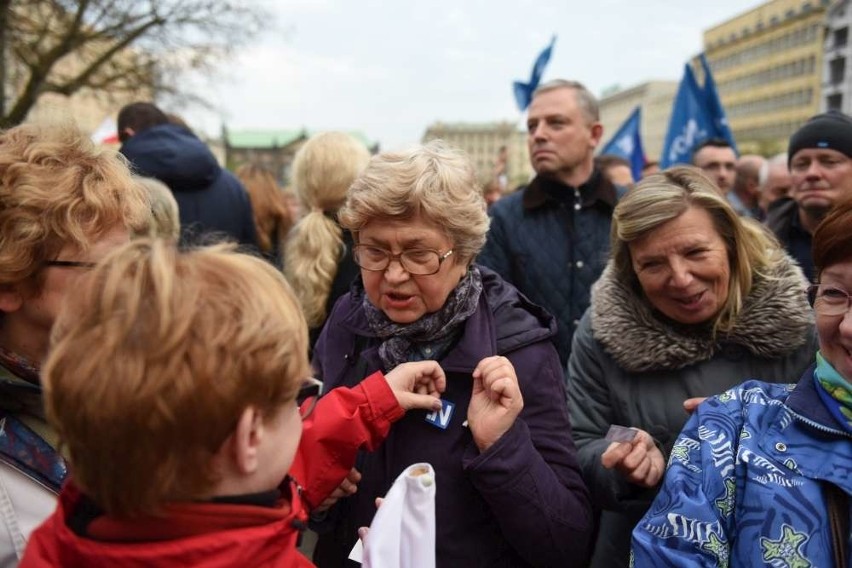
[[376, 511], [364, 543], [366, 568], [435, 568], [435, 470], [406, 468]]

